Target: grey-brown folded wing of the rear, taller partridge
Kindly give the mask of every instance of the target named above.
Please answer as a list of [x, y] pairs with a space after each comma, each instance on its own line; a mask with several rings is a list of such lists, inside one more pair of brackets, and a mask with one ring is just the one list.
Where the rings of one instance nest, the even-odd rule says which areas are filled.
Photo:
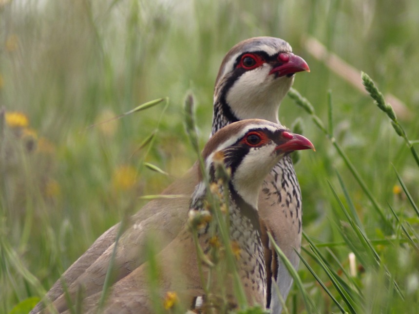
[[[181, 230], [187, 216], [190, 195], [198, 183], [198, 166], [192, 166], [186, 175], [167, 187], [164, 195], [188, 195], [184, 198], [154, 199], [142, 207], [131, 219], [131, 226], [120, 238], [114, 260], [116, 280], [130, 274], [145, 261], [142, 254], [147, 240], [154, 234], [159, 235], [159, 248], [163, 248]], [[91, 296], [102, 290], [103, 282], [115, 245], [115, 237], [120, 224], [108, 229], [92, 246], [63, 274], [62, 279], [69, 287], [71, 296], [75, 296], [82, 285], [85, 296]], [[158, 249], [158, 248], [157, 248]], [[158, 250], [157, 250], [158, 252]], [[64, 311], [67, 308], [61, 280], [57, 280], [47, 296], [54, 305]], [[38, 313], [43, 308], [42, 302], [31, 311]]]

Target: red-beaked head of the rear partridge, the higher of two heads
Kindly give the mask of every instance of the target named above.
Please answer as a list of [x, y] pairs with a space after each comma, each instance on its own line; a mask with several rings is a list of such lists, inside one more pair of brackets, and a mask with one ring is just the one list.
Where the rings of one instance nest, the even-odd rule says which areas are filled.
[[278, 123], [278, 108], [294, 74], [310, 71], [280, 38], [255, 37], [235, 45], [224, 57], [215, 80], [212, 131], [243, 119]]

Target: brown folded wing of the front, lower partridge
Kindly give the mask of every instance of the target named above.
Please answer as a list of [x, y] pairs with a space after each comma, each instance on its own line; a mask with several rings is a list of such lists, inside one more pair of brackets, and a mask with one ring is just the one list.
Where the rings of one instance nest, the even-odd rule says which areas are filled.
[[[176, 293], [177, 306], [190, 305], [193, 296], [204, 294], [194, 250], [194, 243], [184, 220], [183, 229], [178, 236], [155, 255], [153, 267], [158, 269], [158, 278], [154, 280], [158, 284], [151, 283], [149, 262], [141, 264], [114, 283], [101, 313], [156, 313], [158, 308], [163, 308], [168, 292]], [[83, 300], [83, 313], [97, 313], [101, 294], [99, 291]], [[183, 310], [186, 312], [187, 309]]]

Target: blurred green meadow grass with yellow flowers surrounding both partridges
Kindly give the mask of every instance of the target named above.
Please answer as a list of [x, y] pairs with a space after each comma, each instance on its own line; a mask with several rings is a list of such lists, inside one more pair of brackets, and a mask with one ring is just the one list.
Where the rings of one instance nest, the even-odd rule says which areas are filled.
[[[25, 313], [99, 235], [147, 202], [140, 197], [193, 164], [185, 96], [195, 98], [202, 148], [222, 57], [254, 36], [286, 39], [311, 69], [294, 88], [313, 110], [292, 93], [279, 112], [287, 126], [298, 118], [317, 150], [296, 165], [310, 268], [300, 263], [288, 312], [417, 312], [418, 1], [38, 2], [0, 4], [0, 106], [22, 112], [33, 130], [0, 119], [0, 313]], [[385, 102], [378, 108], [377, 97], [305, 50], [308, 36], [410, 113], [387, 116]]]

